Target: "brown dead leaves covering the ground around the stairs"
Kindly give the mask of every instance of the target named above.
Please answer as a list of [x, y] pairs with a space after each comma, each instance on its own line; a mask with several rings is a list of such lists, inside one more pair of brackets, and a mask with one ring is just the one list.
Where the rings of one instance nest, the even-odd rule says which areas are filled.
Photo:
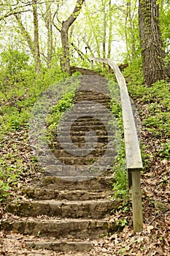
[[[142, 110], [140, 118], [147, 114], [147, 105], [140, 100], [136, 100], [136, 108]], [[142, 145], [145, 145], [145, 153], [150, 155], [150, 163], [141, 176], [142, 181], [142, 205], [144, 215], [144, 228], [141, 233], [134, 233], [132, 225], [132, 211], [115, 211], [109, 218], [126, 219], [123, 231], [112, 234], [112, 236], [100, 238], [93, 241], [93, 249], [86, 253], [62, 253], [51, 252], [45, 249], [35, 250], [26, 247], [26, 241], [41, 241], [43, 238], [35, 236], [23, 236], [18, 233], [0, 232], [0, 255], [170, 255], [170, 182], [169, 182], [169, 159], [160, 159], [156, 152], [160, 151], [161, 143], [166, 143], [165, 137], [155, 137], [152, 132], [148, 132], [145, 127], [141, 131]], [[39, 166], [32, 161], [31, 150], [28, 143], [28, 132], [11, 132], [3, 140], [3, 154], [11, 151], [12, 155], [24, 162], [26, 171], [20, 176], [20, 181], [16, 184], [14, 197], [23, 197], [22, 187], [30, 185], [36, 176], [41, 176]], [[2, 144], [1, 143], [1, 144]], [[12, 145], [15, 143], [15, 147]], [[12, 159], [9, 159], [12, 165]], [[129, 203], [131, 208], [131, 202]], [[5, 206], [1, 203], [0, 218], [5, 219]], [[53, 239], [53, 238], [52, 238]]]

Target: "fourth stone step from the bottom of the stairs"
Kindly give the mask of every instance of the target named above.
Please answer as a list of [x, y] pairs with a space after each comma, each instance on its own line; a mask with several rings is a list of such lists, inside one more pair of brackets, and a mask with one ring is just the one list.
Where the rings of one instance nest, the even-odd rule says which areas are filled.
[[28, 198], [36, 200], [96, 200], [108, 199], [114, 195], [112, 190], [94, 190], [93, 192], [87, 190], [52, 190], [52, 189], [37, 189], [29, 187], [23, 189], [22, 194]]

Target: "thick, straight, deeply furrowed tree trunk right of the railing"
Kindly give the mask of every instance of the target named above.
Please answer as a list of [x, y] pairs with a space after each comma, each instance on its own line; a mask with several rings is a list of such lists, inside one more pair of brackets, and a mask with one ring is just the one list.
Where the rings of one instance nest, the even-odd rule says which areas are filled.
[[139, 0], [139, 32], [144, 82], [152, 86], [152, 83], [166, 78], [157, 0]]

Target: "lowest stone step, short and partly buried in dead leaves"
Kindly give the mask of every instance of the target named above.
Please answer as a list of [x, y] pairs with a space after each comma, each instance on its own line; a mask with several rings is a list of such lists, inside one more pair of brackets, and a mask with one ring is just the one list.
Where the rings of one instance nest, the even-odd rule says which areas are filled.
[[90, 241], [33, 241], [26, 242], [28, 248], [47, 249], [54, 252], [88, 252], [93, 248]]

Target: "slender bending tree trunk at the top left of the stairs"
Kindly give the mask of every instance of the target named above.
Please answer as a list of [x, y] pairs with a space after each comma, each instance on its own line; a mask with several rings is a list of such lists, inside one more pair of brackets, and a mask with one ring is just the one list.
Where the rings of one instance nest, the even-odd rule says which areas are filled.
[[63, 49], [63, 54], [61, 56], [61, 68], [64, 72], [70, 73], [70, 56], [69, 56], [69, 28], [77, 19], [80, 10], [82, 9], [82, 4], [85, 0], [77, 0], [74, 7], [74, 11], [69, 16], [69, 18], [62, 23], [61, 27], [61, 44]]

